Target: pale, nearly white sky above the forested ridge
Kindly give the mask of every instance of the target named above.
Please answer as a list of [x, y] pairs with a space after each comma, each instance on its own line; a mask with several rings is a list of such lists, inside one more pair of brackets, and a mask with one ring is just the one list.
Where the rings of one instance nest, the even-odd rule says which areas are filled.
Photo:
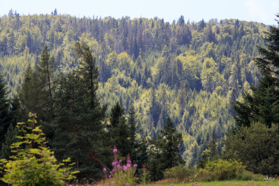
[[278, 0], [0, 0], [0, 16], [10, 9], [20, 15], [50, 14], [54, 9], [59, 14], [77, 17], [159, 17], [165, 22], [184, 20], [198, 22], [217, 18], [277, 24]]

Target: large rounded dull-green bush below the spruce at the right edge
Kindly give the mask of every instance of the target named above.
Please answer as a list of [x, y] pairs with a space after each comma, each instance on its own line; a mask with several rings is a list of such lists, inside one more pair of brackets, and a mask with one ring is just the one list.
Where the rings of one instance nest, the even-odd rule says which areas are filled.
[[278, 139], [278, 126], [251, 123], [250, 127], [241, 127], [235, 134], [227, 136], [223, 157], [243, 162], [253, 173], [278, 175]]

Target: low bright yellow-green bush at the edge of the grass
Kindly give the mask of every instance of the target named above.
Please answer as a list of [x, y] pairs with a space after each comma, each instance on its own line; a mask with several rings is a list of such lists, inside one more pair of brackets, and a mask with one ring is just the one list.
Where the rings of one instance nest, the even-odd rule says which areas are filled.
[[199, 169], [197, 178], [202, 180], [229, 180], [236, 178], [237, 175], [244, 173], [245, 166], [241, 162], [218, 159], [207, 162], [204, 169]]

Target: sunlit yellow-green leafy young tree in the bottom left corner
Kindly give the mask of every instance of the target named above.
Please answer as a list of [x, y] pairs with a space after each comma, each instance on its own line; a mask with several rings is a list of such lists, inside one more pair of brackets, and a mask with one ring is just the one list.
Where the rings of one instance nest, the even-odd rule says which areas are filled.
[[28, 123], [17, 123], [23, 134], [19, 142], [10, 146], [14, 155], [1, 160], [3, 182], [12, 185], [64, 185], [75, 178], [70, 158], [56, 162], [54, 152], [46, 146], [45, 134], [37, 125], [36, 114], [29, 114]]

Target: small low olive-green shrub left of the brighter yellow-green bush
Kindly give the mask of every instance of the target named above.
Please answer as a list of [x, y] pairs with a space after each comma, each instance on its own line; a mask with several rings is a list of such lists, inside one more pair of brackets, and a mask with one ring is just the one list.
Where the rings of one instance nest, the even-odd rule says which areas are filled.
[[165, 170], [164, 177], [176, 181], [192, 180], [195, 172], [187, 166], [179, 165]]

